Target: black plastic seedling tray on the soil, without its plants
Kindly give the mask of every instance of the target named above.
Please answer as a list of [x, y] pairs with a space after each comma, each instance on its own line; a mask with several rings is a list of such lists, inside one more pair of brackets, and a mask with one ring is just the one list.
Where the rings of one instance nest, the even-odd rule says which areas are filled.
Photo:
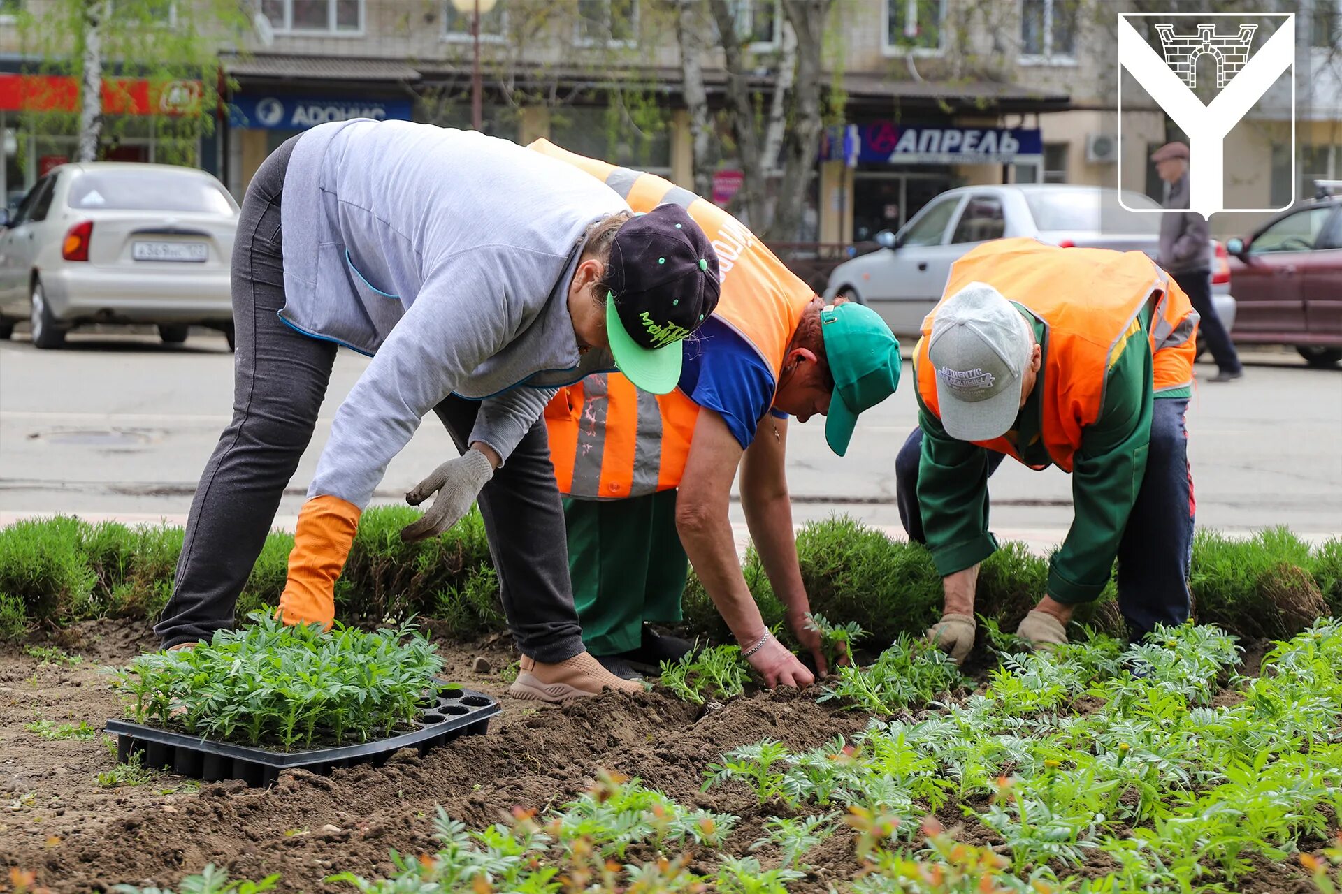
[[501, 710], [498, 698], [442, 681], [437, 704], [424, 712], [415, 729], [357, 745], [280, 752], [208, 741], [129, 720], [109, 720], [107, 732], [117, 735], [118, 763], [125, 764], [138, 753], [141, 763], [154, 769], [172, 769], [207, 783], [242, 779], [248, 785], [260, 787], [274, 784], [282, 769], [295, 767], [329, 773], [337, 767], [354, 764], [380, 767], [401, 748], [417, 748], [424, 755], [458, 736], [484, 735], [490, 717]]

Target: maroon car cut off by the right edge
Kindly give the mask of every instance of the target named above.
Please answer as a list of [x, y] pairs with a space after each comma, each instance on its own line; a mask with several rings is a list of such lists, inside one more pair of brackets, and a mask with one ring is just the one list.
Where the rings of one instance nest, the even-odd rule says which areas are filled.
[[1342, 196], [1323, 188], [1312, 201], [1225, 245], [1236, 302], [1231, 336], [1240, 344], [1294, 344], [1310, 366], [1337, 366], [1342, 361]]

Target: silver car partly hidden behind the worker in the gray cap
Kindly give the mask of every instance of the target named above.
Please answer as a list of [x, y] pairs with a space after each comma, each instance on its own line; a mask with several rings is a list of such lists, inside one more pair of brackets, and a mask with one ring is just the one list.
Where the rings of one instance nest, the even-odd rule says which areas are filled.
[[[1127, 208], [1159, 209], [1150, 197], [1123, 192]], [[961, 186], [927, 202], [898, 232], [876, 235], [882, 248], [844, 261], [829, 273], [825, 298], [847, 296], [875, 310], [895, 335], [918, 338], [922, 320], [941, 300], [950, 265], [992, 239], [1031, 236], [1080, 248], [1159, 249], [1159, 214], [1127, 210], [1118, 192], [1100, 186], [1017, 184]], [[1227, 331], [1235, 323], [1225, 248], [1208, 241], [1212, 302]]]

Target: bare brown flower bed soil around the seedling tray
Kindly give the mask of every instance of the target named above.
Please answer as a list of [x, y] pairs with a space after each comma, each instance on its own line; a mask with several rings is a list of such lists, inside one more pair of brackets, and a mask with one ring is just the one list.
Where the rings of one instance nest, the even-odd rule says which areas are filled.
[[[279, 873], [286, 891], [350, 891], [323, 878], [342, 870], [389, 873], [389, 848], [432, 852], [436, 806], [479, 828], [505, 820], [514, 807], [544, 810], [576, 796], [597, 768], [637, 776], [682, 804], [741, 816], [729, 847], [742, 852], [768, 816], [789, 811], [760, 807], [737, 787], [701, 791], [705, 768], [725, 749], [764, 737], [809, 748], [867, 721], [817, 705], [813, 690], [757, 692], [707, 710], [658, 693], [608, 694], [566, 708], [505, 697], [487, 736], [456, 740], [425, 757], [404, 749], [381, 768], [338, 769], [329, 777], [289, 771], [270, 789], [242, 781], [197, 788], [169, 772], [136, 787], [101, 788], [97, 775], [113, 767], [101, 739], [48, 741], [25, 726], [39, 716], [98, 726], [119, 716], [98, 665], [123, 663], [154, 642], [142, 622], [89, 622], [62, 639], [67, 651], [85, 657], [82, 663], [42, 663], [23, 647], [0, 646], [0, 870], [34, 871], [38, 885], [54, 893], [119, 882], [176, 885], [211, 862], [235, 878]], [[498, 670], [514, 658], [506, 641], [444, 645], [443, 655], [446, 678], [503, 696]], [[472, 672], [476, 657], [490, 662], [490, 676]], [[1245, 673], [1256, 670], [1253, 657]], [[961, 840], [997, 840], [976, 820], [943, 814], [939, 819], [958, 826]], [[789, 890], [841, 886], [856, 869], [852, 836], [835, 835], [808, 862], [813, 874]], [[1298, 863], [1259, 860], [1239, 890], [1315, 889]]]

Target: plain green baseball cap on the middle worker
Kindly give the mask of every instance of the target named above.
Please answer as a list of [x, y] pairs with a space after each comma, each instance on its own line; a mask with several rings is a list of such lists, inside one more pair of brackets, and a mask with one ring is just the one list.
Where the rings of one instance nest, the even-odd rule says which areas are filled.
[[899, 339], [870, 307], [854, 302], [820, 311], [825, 358], [835, 377], [835, 393], [825, 417], [825, 441], [843, 456], [858, 426], [858, 414], [870, 410], [899, 387]]

